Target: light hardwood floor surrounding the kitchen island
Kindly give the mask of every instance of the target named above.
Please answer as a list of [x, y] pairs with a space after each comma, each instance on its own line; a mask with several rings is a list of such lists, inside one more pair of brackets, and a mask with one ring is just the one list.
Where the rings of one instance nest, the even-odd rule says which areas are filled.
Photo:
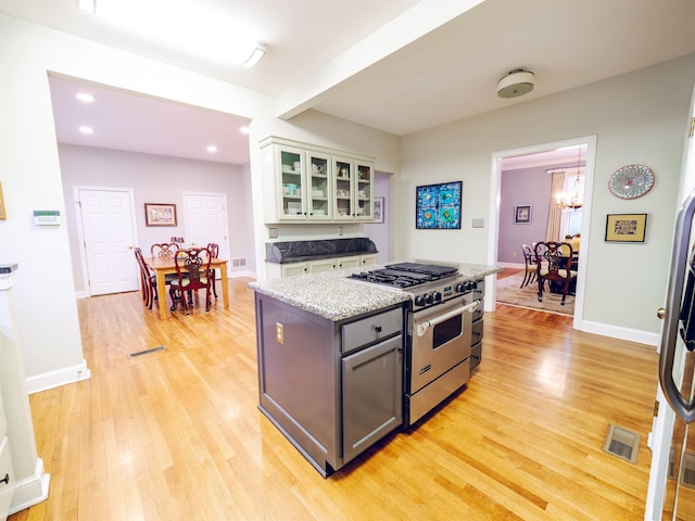
[[[31, 395], [50, 495], [11, 521], [643, 518], [654, 348], [501, 305], [463, 392], [323, 479], [256, 408], [247, 282], [165, 321], [138, 293], [78, 302], [92, 378]], [[637, 465], [602, 450], [611, 422]]]

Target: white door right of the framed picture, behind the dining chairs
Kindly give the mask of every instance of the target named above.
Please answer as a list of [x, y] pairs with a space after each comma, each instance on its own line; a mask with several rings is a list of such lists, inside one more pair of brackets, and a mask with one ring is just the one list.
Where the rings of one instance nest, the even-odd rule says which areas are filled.
[[[186, 233], [191, 246], [219, 244], [219, 257], [229, 260], [229, 217], [224, 193], [184, 193]], [[229, 265], [227, 264], [227, 271]]]

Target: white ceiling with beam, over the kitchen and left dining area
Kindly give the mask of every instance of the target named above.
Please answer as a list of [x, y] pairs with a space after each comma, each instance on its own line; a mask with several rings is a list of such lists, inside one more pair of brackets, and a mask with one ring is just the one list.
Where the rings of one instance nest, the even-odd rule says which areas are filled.
[[[282, 117], [315, 109], [399, 136], [695, 52], [693, 0], [479, 1], [195, 0], [267, 45], [251, 69], [129, 34], [75, 0], [0, 0], [0, 11], [277, 97]], [[520, 67], [535, 89], [497, 98], [497, 80]], [[71, 84], [51, 80], [59, 141], [248, 161], [242, 118], [97, 86], [85, 114]], [[74, 131], [86, 123], [97, 127], [88, 140]], [[214, 157], [211, 142], [222, 143]]]

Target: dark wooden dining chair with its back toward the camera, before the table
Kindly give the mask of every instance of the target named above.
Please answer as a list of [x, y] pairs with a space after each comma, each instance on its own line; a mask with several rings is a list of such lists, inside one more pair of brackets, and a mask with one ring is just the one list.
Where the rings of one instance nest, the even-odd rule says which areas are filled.
[[210, 263], [212, 256], [206, 247], [189, 247], [179, 250], [174, 256], [177, 279], [172, 281], [169, 295], [172, 295], [172, 312], [176, 310], [177, 304], [184, 305], [186, 315], [189, 315], [189, 300], [185, 298], [184, 292], [189, 295], [193, 291], [205, 290], [205, 310], [210, 310], [212, 304], [210, 300]]

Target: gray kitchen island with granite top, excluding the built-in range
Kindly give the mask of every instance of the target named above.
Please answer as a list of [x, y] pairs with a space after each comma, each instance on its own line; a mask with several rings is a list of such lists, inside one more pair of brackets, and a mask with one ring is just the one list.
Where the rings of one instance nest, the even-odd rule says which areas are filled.
[[[456, 267], [470, 281], [500, 271]], [[410, 296], [349, 278], [358, 270], [249, 284], [258, 408], [324, 476], [403, 425]]]

